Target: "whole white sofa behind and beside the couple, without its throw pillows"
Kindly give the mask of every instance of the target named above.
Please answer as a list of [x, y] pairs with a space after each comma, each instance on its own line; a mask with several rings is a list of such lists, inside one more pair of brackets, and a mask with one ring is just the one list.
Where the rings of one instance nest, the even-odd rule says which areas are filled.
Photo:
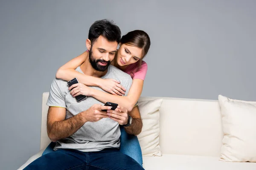
[[[40, 157], [50, 143], [46, 122], [49, 93], [43, 94], [40, 151], [19, 170]], [[160, 149], [163, 156], [143, 156], [145, 170], [256, 170], [256, 163], [219, 161], [223, 132], [218, 100], [163, 99], [160, 108]]]

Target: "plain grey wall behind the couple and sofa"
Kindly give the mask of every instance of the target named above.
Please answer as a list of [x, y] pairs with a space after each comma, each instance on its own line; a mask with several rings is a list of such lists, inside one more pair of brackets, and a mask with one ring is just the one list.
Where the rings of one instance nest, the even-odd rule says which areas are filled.
[[255, 0], [1, 1], [0, 169], [38, 152], [42, 93], [86, 50], [95, 20], [150, 35], [142, 96], [256, 101], [255, 8]]

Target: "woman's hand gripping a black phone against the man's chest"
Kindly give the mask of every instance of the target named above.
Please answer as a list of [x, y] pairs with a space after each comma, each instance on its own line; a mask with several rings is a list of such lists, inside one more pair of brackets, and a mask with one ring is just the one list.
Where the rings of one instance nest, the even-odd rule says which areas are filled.
[[[70, 91], [71, 89], [72, 89], [72, 91]], [[71, 85], [70, 88], [68, 88], [68, 90], [70, 91], [70, 94], [73, 97], [76, 97], [80, 94], [84, 95], [84, 96], [91, 96], [90, 88], [82, 83], [77, 83], [77, 84]]]

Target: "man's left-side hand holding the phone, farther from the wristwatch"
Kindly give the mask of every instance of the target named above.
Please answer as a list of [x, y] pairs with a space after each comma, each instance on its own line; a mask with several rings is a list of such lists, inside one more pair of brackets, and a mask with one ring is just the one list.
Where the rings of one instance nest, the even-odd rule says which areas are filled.
[[81, 114], [85, 122], [97, 122], [102, 118], [108, 117], [107, 113], [102, 110], [110, 109], [111, 106], [102, 106], [100, 104], [94, 104], [87, 111], [81, 112]]

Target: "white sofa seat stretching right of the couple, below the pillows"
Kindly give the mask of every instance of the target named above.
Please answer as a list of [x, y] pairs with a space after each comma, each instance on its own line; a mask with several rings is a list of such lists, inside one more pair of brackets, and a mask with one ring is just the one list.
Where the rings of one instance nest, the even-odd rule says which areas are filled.
[[163, 154], [143, 157], [145, 170], [256, 170], [254, 162], [225, 162], [219, 157]]

